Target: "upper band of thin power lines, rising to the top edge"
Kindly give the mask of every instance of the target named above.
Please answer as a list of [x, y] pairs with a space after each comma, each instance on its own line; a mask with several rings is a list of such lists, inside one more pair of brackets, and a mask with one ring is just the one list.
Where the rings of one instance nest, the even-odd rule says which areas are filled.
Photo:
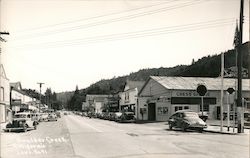
[[127, 15], [127, 16], [124, 16], [124, 17], [103, 20], [103, 21], [100, 21], [100, 22], [94, 22], [94, 23], [79, 25], [79, 26], [75, 26], [75, 27], [63, 28], [63, 29], [59, 29], [59, 30], [56, 30], [56, 31], [41, 32], [41, 33], [37, 33], [37, 34], [32, 34], [30, 36], [26, 35], [26, 36], [21, 36], [21, 37], [23, 37], [22, 40], [24, 40], [25, 37], [26, 38], [37, 38], [37, 36], [49, 36], [49, 35], [52, 35], [52, 34], [64, 33], [64, 32], [78, 30], [78, 29], [86, 29], [86, 28], [90, 28], [90, 27], [94, 27], [94, 26], [98, 26], [98, 25], [109, 24], [109, 23], [114, 23], [114, 22], [118, 22], [118, 21], [129, 20], [129, 19], [133, 19], [133, 18], [137, 18], [137, 17], [141, 17], [141, 16], [151, 15], [151, 14], [155, 14], [155, 13], [159, 13], [159, 12], [163, 12], [163, 11], [179, 9], [179, 8], [182, 8], [182, 7], [191, 6], [191, 5], [194, 5], [194, 4], [201, 3], [201, 2], [202, 2], [201, 0], [197, 0], [197, 1], [192, 2], [192, 3], [188, 2], [188, 3], [183, 3], [182, 5], [164, 7], [164, 8], [160, 8], [160, 9], [157, 9], [157, 10], [151, 10], [151, 11], [148, 11], [148, 12], [142, 12], [142, 13], [138, 13], [138, 14], [134, 14], [134, 15]]

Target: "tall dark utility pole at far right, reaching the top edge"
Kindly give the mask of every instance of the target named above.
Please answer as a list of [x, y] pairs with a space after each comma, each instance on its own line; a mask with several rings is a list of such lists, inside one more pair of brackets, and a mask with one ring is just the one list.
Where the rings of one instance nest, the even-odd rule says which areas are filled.
[[236, 46], [237, 55], [237, 69], [238, 69], [238, 91], [237, 91], [237, 120], [238, 120], [238, 133], [243, 133], [243, 106], [242, 106], [242, 31], [243, 31], [243, 11], [244, 0], [240, 1], [240, 24], [239, 24], [239, 44]]

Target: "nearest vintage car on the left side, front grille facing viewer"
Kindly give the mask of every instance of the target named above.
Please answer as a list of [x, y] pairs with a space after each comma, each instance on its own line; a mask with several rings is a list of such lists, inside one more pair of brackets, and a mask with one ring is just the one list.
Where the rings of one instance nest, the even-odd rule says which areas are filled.
[[14, 115], [12, 122], [6, 125], [5, 131], [23, 131], [37, 128], [37, 121], [32, 113], [21, 112]]

